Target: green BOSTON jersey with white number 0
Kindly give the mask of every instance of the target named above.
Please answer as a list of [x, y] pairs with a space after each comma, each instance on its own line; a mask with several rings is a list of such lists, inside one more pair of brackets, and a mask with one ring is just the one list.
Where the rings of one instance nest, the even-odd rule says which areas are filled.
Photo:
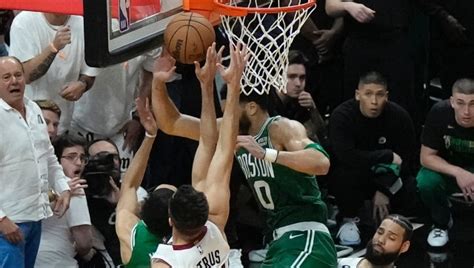
[[[273, 148], [268, 126], [279, 118], [268, 118], [254, 137], [263, 148]], [[319, 144], [308, 147], [327, 155]], [[315, 176], [257, 159], [243, 148], [237, 151], [236, 157], [272, 230], [303, 221], [326, 224], [327, 208]]]

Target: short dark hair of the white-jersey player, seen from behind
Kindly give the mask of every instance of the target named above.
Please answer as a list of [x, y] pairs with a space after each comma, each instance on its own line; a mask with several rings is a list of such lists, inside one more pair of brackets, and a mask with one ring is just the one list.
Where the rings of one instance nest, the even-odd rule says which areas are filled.
[[170, 199], [169, 214], [174, 227], [185, 236], [196, 235], [206, 224], [209, 204], [204, 193], [182, 185]]

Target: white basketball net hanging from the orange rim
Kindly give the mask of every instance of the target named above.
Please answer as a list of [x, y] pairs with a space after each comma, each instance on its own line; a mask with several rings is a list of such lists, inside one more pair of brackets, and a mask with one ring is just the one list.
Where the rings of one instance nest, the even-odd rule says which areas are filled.
[[314, 10], [314, 0], [288, 0], [288, 5], [281, 4], [282, 0], [268, 0], [264, 6], [257, 2], [262, 1], [249, 0], [243, 5], [242, 1], [230, 0], [225, 4], [229, 10], [246, 9], [248, 13], [221, 14], [221, 25], [230, 43], [245, 44], [250, 53], [241, 80], [242, 92], [262, 95], [273, 88], [286, 93], [290, 45]]

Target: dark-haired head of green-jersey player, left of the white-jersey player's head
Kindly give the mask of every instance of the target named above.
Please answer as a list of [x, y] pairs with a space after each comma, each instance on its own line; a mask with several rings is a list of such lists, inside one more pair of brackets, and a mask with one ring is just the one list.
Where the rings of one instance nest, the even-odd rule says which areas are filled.
[[174, 191], [168, 188], [159, 188], [150, 193], [143, 203], [140, 216], [148, 230], [157, 237], [171, 234], [168, 204], [173, 194]]

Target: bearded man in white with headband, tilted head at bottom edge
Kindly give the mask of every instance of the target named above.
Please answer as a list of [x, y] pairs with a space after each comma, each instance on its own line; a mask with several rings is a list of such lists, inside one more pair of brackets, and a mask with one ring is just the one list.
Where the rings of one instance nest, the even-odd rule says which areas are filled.
[[367, 243], [365, 257], [343, 258], [339, 260], [338, 267], [395, 267], [398, 256], [410, 248], [412, 234], [413, 226], [407, 218], [395, 214], [388, 215]]

